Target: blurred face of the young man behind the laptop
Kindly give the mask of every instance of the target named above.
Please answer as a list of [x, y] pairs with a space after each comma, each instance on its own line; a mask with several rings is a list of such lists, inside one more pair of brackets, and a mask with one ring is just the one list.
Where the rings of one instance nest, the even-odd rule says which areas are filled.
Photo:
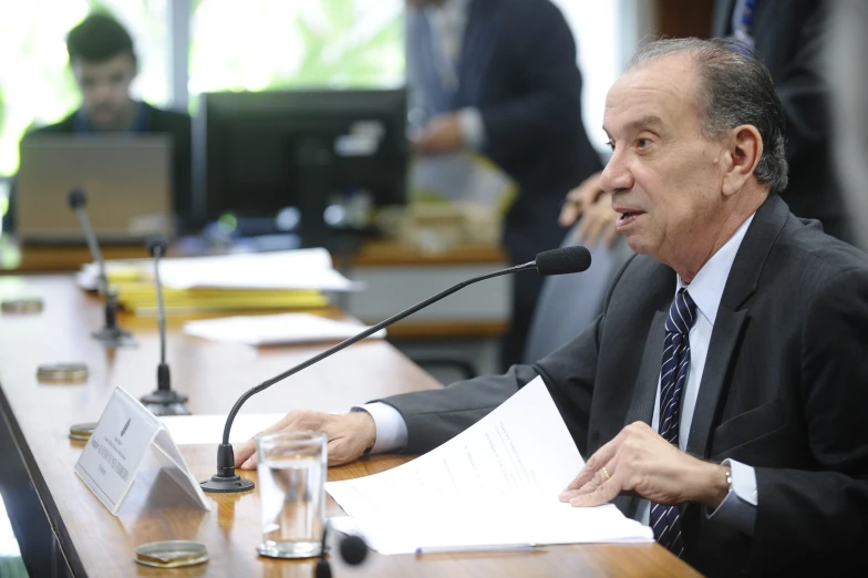
[[113, 130], [123, 123], [130, 103], [130, 83], [136, 70], [133, 56], [117, 54], [103, 62], [72, 62], [72, 73], [82, 94], [82, 107], [96, 130]]

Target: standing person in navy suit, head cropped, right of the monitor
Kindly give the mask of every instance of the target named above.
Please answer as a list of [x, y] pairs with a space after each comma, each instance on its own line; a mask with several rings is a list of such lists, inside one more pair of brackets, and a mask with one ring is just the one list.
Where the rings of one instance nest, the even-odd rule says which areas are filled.
[[[549, 0], [407, 0], [407, 82], [418, 155], [474, 148], [519, 187], [505, 219], [512, 262], [558, 247], [564, 192], [600, 168], [581, 121], [576, 43]], [[541, 287], [513, 278], [504, 369], [521, 358]]]

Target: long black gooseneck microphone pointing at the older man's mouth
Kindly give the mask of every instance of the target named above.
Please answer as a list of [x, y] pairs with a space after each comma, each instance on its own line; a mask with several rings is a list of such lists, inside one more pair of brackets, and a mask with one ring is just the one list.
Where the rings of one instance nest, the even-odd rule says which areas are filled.
[[200, 482], [202, 488], [205, 492], [217, 492], [217, 493], [234, 493], [234, 492], [246, 492], [248, 489], [254, 488], [254, 483], [249, 479], [241, 478], [238, 474], [235, 473], [235, 452], [232, 451], [232, 445], [229, 443], [229, 433], [232, 429], [232, 422], [235, 421], [235, 416], [238, 414], [238, 411], [241, 409], [241, 405], [245, 404], [247, 400], [259, 393], [260, 391], [267, 390], [275, 383], [282, 381], [290, 375], [298, 373], [299, 371], [307, 369], [314, 363], [322, 361], [323, 359], [339, 352], [342, 349], [345, 349], [353, 343], [361, 341], [362, 339], [372, 336], [380, 331], [383, 328], [391, 326], [397, 321], [401, 321], [405, 317], [409, 317], [420, 309], [424, 309], [427, 306], [435, 303], [443, 299], [444, 297], [448, 297], [455, 291], [467, 287], [468, 285], [473, 285], [477, 281], [484, 281], [485, 279], [492, 279], [493, 277], [500, 277], [503, 275], [512, 275], [518, 271], [528, 271], [535, 269], [539, 275], [549, 276], [549, 275], [566, 275], [572, 272], [580, 272], [588, 267], [591, 266], [591, 254], [581, 246], [574, 246], [574, 247], [564, 247], [561, 249], [552, 249], [549, 251], [544, 251], [537, 255], [537, 258], [533, 261], [526, 262], [524, 265], [516, 265], [515, 267], [509, 267], [508, 269], [500, 269], [499, 271], [494, 271], [485, 275], [480, 275], [478, 277], [474, 277], [472, 279], [464, 280], [457, 285], [450, 287], [448, 289], [441, 291], [440, 293], [435, 295], [434, 297], [430, 297], [424, 301], [414, 305], [409, 309], [404, 309], [397, 314], [390, 317], [389, 319], [376, 323], [373, 327], [365, 329], [364, 331], [356, 333], [355, 336], [341, 341], [337, 345], [333, 345], [322, 353], [318, 355], [313, 355], [307, 361], [303, 361], [296, 365], [294, 368], [285, 371], [283, 373], [271, 378], [270, 380], [264, 381], [256, 388], [251, 388], [244, 392], [238, 401], [235, 402], [229, 415], [226, 417], [226, 425], [224, 426], [223, 431], [223, 443], [217, 446], [217, 473], [210, 477], [210, 479], [206, 479]]

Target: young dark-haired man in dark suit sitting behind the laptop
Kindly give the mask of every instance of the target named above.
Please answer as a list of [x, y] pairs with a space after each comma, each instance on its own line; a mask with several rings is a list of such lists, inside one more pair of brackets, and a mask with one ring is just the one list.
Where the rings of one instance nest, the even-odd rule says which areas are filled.
[[[56, 124], [28, 133], [87, 135], [107, 133], [162, 133], [173, 141], [173, 194], [175, 213], [185, 223], [190, 215], [190, 117], [164, 111], [130, 95], [138, 64], [130, 33], [112, 17], [93, 13], [66, 37], [70, 69], [81, 92], [81, 107]], [[14, 193], [12, 196], [14, 202]], [[14, 228], [10, 203], [3, 230]]]

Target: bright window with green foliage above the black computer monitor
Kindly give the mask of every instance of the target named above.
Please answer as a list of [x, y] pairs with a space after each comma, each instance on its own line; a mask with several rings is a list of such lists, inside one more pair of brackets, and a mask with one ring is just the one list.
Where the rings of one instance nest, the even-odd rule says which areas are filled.
[[404, 0], [194, 0], [193, 106], [203, 92], [383, 87], [404, 81]]

